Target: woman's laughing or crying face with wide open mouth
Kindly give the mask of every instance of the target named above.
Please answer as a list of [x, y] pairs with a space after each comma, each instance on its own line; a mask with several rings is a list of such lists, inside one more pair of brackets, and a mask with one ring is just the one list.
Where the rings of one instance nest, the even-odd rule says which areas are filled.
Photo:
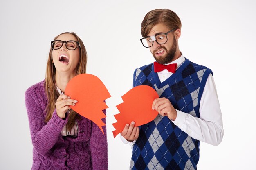
[[[62, 34], [58, 36], [56, 40], [61, 41], [78, 41], [72, 34]], [[66, 47], [66, 43], [63, 43], [62, 47], [58, 50], [52, 50], [52, 59], [56, 72], [76, 74], [77, 65], [79, 63], [80, 50], [79, 45], [75, 50], [69, 50]]]

